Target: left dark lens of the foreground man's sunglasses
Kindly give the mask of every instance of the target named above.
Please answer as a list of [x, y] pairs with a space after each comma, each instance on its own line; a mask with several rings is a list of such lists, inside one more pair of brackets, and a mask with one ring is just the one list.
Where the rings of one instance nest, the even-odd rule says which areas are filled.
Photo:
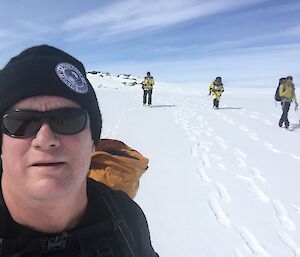
[[4, 132], [13, 137], [30, 137], [37, 133], [41, 121], [30, 112], [15, 111], [3, 116]]

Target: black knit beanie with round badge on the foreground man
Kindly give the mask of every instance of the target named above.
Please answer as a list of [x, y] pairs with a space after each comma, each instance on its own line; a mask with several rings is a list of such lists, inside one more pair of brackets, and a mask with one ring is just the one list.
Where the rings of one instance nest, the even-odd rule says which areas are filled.
[[98, 144], [101, 113], [95, 91], [80, 61], [62, 50], [41, 45], [24, 50], [0, 70], [1, 117], [17, 102], [41, 95], [65, 97], [87, 110], [92, 138], [94, 144]]

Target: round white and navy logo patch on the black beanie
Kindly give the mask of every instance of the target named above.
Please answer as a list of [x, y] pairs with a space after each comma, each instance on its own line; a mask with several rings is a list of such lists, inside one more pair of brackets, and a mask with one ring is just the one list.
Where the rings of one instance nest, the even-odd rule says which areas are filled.
[[81, 72], [70, 63], [59, 63], [55, 67], [57, 76], [70, 89], [84, 94], [88, 91], [88, 85]]

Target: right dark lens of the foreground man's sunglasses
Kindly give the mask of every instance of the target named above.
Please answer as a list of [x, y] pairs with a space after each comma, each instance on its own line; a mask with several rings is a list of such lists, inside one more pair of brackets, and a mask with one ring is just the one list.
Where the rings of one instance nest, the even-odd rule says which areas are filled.
[[87, 126], [88, 114], [83, 109], [59, 109], [52, 111], [49, 116], [51, 129], [59, 134], [76, 134], [84, 130]]

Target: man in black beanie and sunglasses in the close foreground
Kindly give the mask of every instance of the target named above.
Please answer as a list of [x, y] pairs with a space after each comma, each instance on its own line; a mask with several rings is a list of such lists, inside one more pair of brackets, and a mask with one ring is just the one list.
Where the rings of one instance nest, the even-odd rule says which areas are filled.
[[83, 64], [28, 48], [0, 95], [0, 256], [157, 257], [141, 208], [87, 177], [102, 117]]

